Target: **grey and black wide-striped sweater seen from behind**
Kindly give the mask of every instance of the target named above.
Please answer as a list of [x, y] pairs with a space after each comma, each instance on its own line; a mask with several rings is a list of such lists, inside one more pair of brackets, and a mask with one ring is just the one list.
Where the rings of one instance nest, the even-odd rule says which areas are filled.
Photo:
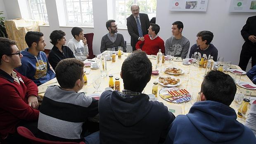
[[37, 137], [51, 141], [84, 141], [82, 126], [88, 118], [98, 114], [98, 100], [83, 92], [47, 88], [38, 119]]

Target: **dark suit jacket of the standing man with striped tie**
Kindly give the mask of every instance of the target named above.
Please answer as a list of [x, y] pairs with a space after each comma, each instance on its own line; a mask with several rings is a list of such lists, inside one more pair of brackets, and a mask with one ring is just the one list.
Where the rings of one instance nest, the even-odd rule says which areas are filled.
[[[138, 41], [138, 38], [140, 37], [137, 23], [135, 18], [133, 17], [133, 14], [131, 14], [130, 17], [128, 17], [126, 20], [127, 20], [126, 26], [128, 29], [128, 33], [130, 34], [130, 45], [133, 47], [133, 50], [135, 50], [135, 45]], [[140, 24], [141, 24], [143, 35], [148, 34], [147, 29], [149, 28], [150, 23], [149, 23], [149, 17], [147, 16], [147, 14], [140, 13]]]

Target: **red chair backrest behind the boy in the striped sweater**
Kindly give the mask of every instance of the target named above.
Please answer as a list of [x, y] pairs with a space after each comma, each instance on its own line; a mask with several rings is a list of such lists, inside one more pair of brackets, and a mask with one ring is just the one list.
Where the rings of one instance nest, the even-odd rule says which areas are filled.
[[[35, 137], [30, 130], [28, 130], [26, 127], [22, 127], [22, 126], [17, 127], [17, 132], [22, 137], [29, 139], [29, 141], [32, 144], [78, 144], [76, 142], [54, 142], [54, 141], [48, 141], [45, 139], [39, 139], [39, 138]], [[85, 142], [80, 142], [79, 144], [85, 144]]]

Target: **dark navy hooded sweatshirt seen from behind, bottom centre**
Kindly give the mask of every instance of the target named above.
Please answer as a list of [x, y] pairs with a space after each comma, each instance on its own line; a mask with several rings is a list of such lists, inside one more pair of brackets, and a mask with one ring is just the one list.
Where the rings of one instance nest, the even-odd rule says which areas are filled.
[[110, 90], [99, 101], [101, 144], [158, 144], [175, 116], [147, 94], [122, 97]]

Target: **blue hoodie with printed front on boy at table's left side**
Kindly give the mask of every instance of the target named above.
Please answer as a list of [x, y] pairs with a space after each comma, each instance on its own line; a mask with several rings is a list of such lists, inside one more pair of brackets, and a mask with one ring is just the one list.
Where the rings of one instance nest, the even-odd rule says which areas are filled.
[[33, 56], [28, 52], [28, 48], [21, 51], [23, 58], [21, 58], [21, 66], [16, 70], [23, 76], [33, 80], [36, 85], [41, 85], [53, 78], [55, 73], [50, 69], [49, 62], [44, 52], [39, 52], [38, 56]]

